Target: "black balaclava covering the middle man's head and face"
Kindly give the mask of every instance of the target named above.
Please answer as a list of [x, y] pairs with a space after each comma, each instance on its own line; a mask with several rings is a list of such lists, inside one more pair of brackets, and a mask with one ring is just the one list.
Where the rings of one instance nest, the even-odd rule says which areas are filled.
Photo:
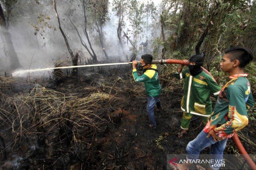
[[189, 61], [196, 63], [195, 65], [188, 64], [188, 68], [192, 76], [196, 76], [197, 74], [200, 74], [203, 71], [203, 69], [201, 68], [203, 64], [203, 57], [200, 54], [196, 54], [190, 57]]

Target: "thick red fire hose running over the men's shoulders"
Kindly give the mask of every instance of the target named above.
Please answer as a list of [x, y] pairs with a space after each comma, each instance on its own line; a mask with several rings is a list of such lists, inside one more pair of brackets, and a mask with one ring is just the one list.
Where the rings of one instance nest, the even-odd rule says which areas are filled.
[[[139, 64], [140, 61], [137, 61], [137, 63]], [[132, 62], [129, 62], [129, 64], [132, 64]], [[151, 62], [151, 64], [181, 64], [181, 65], [188, 65], [188, 62], [183, 62], [183, 60], [174, 60], [174, 59], [167, 59], [167, 60], [153, 60]], [[203, 67], [202, 67], [203, 68]], [[211, 75], [211, 73], [209, 73], [205, 68], [203, 68], [203, 71], [206, 72], [207, 74], [209, 74], [211, 77], [213, 77], [213, 75]], [[213, 77], [214, 79], [214, 77]], [[216, 82], [216, 80], [214, 79], [214, 81]], [[242, 154], [242, 157], [244, 158], [245, 162], [250, 166], [251, 169], [255, 169], [256, 170], [256, 165], [254, 163], [254, 161], [252, 161], [251, 157], [248, 155], [247, 151], [244, 149], [240, 139], [238, 138], [236, 132], [234, 134], [234, 136], [232, 137], [233, 141], [235, 142], [236, 147], [238, 148], [240, 154]]]

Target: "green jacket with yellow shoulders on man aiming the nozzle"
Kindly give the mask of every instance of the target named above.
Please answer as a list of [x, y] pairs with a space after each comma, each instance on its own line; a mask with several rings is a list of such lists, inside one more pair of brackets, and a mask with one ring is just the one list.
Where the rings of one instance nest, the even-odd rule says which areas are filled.
[[[151, 68], [156, 69], [156, 65], [152, 64]], [[154, 70], [147, 69], [141, 76], [138, 75], [137, 70], [133, 69], [133, 78], [136, 82], [144, 82], [146, 93], [151, 97], [158, 97], [161, 94], [161, 85], [159, 83], [158, 73]]]

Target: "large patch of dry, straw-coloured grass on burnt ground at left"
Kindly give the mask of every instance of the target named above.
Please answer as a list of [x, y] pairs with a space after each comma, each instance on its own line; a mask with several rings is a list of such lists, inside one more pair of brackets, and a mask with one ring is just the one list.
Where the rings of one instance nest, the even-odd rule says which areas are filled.
[[[7, 89], [15, 83], [14, 79], [2, 80], [0, 86]], [[88, 143], [86, 137], [92, 138], [108, 126], [111, 117], [103, 115], [103, 110], [115, 99], [115, 96], [100, 91], [83, 98], [66, 96], [35, 84], [29, 93], [6, 97], [6, 101], [1, 102], [0, 126], [2, 131], [4, 127], [12, 128], [16, 135], [14, 145], [27, 137], [47, 135], [59, 137], [61, 143], [67, 140], [71, 144]]]

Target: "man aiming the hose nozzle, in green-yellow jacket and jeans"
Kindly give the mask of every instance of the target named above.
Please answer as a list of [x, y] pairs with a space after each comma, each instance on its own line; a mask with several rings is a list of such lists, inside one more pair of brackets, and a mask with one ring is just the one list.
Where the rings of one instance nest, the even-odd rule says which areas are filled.
[[159, 76], [157, 67], [155, 64], [151, 64], [153, 56], [150, 54], [144, 54], [141, 56], [140, 64], [138, 69], [143, 71], [141, 76], [137, 73], [137, 61], [133, 61], [133, 78], [136, 82], [143, 82], [145, 84], [146, 93], [148, 95], [147, 112], [150, 120], [150, 127], [156, 127], [156, 119], [154, 114], [154, 107], [162, 110], [159, 96], [161, 94], [161, 85], [159, 83]]

